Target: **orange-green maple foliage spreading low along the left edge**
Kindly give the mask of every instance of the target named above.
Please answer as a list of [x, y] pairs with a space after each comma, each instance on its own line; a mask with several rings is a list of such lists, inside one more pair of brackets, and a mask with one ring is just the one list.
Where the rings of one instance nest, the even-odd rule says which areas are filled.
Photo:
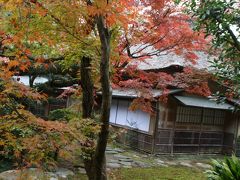
[[85, 125], [76, 128], [35, 117], [26, 110], [24, 103], [28, 99], [42, 101], [46, 97], [13, 81], [4, 69], [1, 69], [0, 79], [1, 160], [17, 167], [50, 168], [56, 165], [58, 157], [67, 155], [64, 147], [74, 145], [70, 142], [92, 148], [86, 133], [81, 130]]

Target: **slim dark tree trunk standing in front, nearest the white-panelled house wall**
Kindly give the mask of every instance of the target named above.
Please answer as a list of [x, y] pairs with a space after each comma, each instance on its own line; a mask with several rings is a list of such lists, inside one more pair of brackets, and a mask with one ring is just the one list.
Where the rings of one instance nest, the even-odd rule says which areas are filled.
[[111, 86], [109, 78], [109, 57], [110, 57], [110, 38], [111, 34], [104, 25], [103, 16], [96, 17], [97, 29], [101, 41], [101, 88], [102, 88], [102, 105], [101, 105], [101, 130], [99, 133], [97, 146], [94, 154], [94, 180], [106, 180], [106, 157], [105, 150], [109, 134], [109, 116], [111, 106]]

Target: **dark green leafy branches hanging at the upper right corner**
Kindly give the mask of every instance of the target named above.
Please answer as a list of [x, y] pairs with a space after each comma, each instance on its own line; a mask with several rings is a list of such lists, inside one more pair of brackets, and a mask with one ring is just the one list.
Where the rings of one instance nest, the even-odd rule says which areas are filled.
[[212, 39], [212, 49], [218, 55], [212, 62], [215, 75], [228, 87], [227, 98], [240, 97], [240, 9], [235, 0], [192, 0], [187, 3], [193, 14], [195, 30], [204, 31]]

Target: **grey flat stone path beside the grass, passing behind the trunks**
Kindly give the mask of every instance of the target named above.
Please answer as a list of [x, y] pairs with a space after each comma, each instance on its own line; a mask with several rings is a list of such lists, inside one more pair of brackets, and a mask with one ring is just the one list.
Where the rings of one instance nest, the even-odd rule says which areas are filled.
[[[193, 156], [196, 157], [196, 156]], [[171, 157], [171, 156], [152, 156], [147, 154], [141, 154], [131, 150], [123, 150], [121, 148], [107, 147], [106, 149], [107, 158], [107, 170], [116, 168], [132, 168], [132, 167], [169, 167], [169, 166], [185, 166], [188, 168], [201, 168], [202, 170], [209, 169], [211, 166], [202, 162], [185, 157]], [[78, 168], [78, 172], [85, 174], [84, 168]], [[42, 172], [38, 169], [30, 168], [24, 171], [10, 170], [0, 173], [0, 180], [17, 180], [20, 177], [22, 179], [31, 180], [64, 180], [69, 179], [69, 176], [74, 176], [74, 172], [68, 169], [59, 168], [55, 172]], [[28, 178], [24, 178], [27, 176]]]

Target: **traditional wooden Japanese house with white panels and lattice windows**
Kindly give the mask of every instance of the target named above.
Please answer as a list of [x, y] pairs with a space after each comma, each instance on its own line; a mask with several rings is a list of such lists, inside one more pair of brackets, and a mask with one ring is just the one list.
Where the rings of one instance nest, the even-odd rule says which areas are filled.
[[[201, 55], [195, 68], [204, 66], [207, 55]], [[153, 59], [138, 66], [146, 71], [172, 72], [185, 66], [177, 56], [167, 63]], [[161, 96], [161, 90], [153, 90], [153, 97]], [[225, 154], [235, 150], [239, 132], [239, 114], [230, 102], [217, 103], [207, 97], [170, 89], [167, 103], [153, 101], [154, 114], [141, 110], [131, 111], [129, 106], [140, 92], [134, 89], [114, 89], [110, 123], [116, 129], [125, 129], [118, 141], [134, 149], [154, 154], [211, 153]]]

